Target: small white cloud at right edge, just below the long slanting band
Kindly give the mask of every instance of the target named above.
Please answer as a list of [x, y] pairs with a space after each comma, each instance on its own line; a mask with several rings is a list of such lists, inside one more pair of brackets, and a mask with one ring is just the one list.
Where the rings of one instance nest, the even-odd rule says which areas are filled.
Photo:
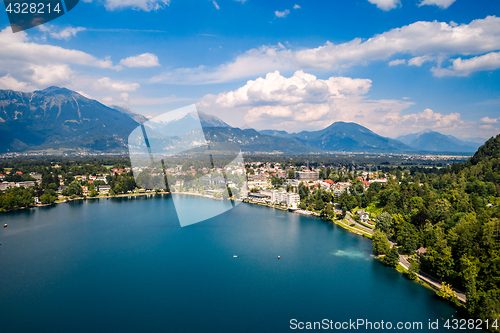
[[477, 71], [489, 71], [500, 68], [500, 52], [490, 52], [469, 59], [457, 58], [446, 68], [434, 67], [432, 72], [437, 77], [468, 76]]

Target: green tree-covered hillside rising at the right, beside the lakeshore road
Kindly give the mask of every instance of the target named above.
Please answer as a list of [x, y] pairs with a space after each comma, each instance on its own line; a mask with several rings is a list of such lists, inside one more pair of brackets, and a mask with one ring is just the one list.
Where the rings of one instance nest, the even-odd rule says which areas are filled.
[[344, 210], [384, 214], [378, 229], [404, 254], [427, 248], [421, 269], [466, 291], [471, 316], [500, 316], [500, 135], [442, 172], [395, 170], [387, 186], [343, 194]]

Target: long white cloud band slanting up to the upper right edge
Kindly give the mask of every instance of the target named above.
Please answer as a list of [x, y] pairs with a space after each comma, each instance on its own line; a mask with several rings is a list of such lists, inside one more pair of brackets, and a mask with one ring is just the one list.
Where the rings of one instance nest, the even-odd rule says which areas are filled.
[[[248, 50], [233, 61], [215, 68], [204, 66], [180, 68], [154, 77], [153, 82], [218, 83], [264, 75], [274, 70], [331, 71], [371, 61], [386, 61], [400, 54], [411, 55], [413, 58], [409, 64], [412, 65], [421, 65], [425, 61], [439, 64], [456, 55], [480, 56], [498, 50], [500, 50], [498, 17], [488, 16], [461, 25], [422, 21], [389, 30], [367, 40], [356, 38], [341, 44], [327, 42], [310, 49], [295, 51], [280, 46], [262, 46]], [[493, 55], [489, 57], [493, 58]], [[458, 62], [460, 61], [462, 60]], [[460, 64], [457, 63], [458, 65]], [[491, 67], [494, 66], [471, 66], [466, 72]], [[449, 70], [454, 71], [453, 68]], [[433, 73], [436, 76], [446, 75], [439, 70], [434, 70]]]

